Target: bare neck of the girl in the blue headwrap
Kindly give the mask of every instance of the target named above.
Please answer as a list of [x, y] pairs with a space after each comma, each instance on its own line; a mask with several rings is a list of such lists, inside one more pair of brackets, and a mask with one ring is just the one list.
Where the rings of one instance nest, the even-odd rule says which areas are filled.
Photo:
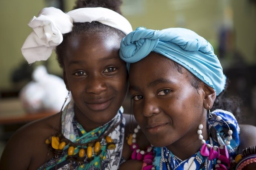
[[[203, 124], [203, 126], [204, 128], [202, 129], [202, 135], [204, 139], [207, 140], [209, 135], [207, 133], [206, 122]], [[195, 129], [193, 133], [187, 135], [186, 139], [178, 140], [172, 143], [171, 145], [167, 146], [167, 149], [181, 160], [186, 160], [191, 157], [191, 155], [197, 153], [202, 145], [201, 140], [198, 139], [197, 129]]]

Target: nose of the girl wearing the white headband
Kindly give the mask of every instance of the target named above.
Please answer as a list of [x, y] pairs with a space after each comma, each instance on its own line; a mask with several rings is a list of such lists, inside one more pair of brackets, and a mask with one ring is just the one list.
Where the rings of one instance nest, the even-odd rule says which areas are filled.
[[106, 81], [101, 75], [90, 75], [87, 81], [87, 93], [100, 94], [107, 89]]

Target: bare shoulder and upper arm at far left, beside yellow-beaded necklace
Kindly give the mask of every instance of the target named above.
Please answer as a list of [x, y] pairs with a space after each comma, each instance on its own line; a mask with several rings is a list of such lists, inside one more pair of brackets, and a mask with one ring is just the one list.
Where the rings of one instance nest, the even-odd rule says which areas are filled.
[[4, 148], [0, 167], [3, 169], [37, 169], [46, 160], [48, 148], [45, 140], [50, 135], [59, 132], [60, 124], [60, 113], [56, 113], [28, 123], [17, 130]]

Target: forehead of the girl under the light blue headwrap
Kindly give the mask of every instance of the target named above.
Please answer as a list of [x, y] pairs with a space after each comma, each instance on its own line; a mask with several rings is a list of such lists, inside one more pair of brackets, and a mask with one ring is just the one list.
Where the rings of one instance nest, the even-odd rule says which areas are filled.
[[130, 65], [130, 84], [139, 85], [144, 82], [153, 82], [157, 79], [181, 83], [189, 81], [186, 71], [180, 73], [171, 59], [155, 52], [151, 52], [147, 57]]

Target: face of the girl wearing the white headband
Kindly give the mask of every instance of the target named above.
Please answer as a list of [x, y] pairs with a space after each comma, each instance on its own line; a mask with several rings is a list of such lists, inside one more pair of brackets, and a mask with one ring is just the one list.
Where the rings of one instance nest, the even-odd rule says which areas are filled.
[[127, 93], [127, 69], [119, 58], [121, 38], [95, 33], [69, 40], [63, 56], [65, 83], [77, 119], [91, 130], [114, 118]]

